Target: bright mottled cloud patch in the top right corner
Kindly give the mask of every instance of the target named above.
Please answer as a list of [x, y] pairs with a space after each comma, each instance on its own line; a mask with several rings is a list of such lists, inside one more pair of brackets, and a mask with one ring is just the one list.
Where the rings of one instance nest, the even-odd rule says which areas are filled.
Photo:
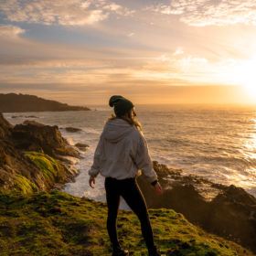
[[179, 16], [189, 26], [256, 26], [256, 2], [251, 0], [173, 0], [170, 5], [151, 5], [146, 10]]

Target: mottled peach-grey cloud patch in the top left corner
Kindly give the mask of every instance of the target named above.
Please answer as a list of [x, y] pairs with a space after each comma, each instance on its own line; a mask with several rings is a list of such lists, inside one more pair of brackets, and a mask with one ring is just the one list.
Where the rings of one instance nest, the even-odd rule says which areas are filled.
[[10, 21], [62, 26], [91, 25], [112, 14], [128, 16], [133, 13], [108, 0], [2, 0], [0, 12]]

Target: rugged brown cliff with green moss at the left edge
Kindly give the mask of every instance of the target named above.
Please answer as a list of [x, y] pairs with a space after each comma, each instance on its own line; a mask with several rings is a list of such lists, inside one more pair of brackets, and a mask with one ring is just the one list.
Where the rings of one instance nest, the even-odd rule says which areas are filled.
[[76, 170], [57, 160], [58, 155], [79, 153], [57, 126], [26, 122], [13, 127], [0, 113], [0, 191], [29, 194], [70, 181]]

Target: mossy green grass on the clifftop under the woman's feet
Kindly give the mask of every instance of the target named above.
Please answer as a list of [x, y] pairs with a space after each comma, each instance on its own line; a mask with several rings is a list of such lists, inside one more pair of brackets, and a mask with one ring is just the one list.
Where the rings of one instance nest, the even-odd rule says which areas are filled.
[[[152, 209], [149, 215], [163, 255], [252, 255], [233, 242], [209, 235], [171, 209]], [[0, 193], [0, 254], [111, 255], [106, 218], [105, 204], [64, 192], [27, 197]], [[121, 243], [131, 255], [147, 255], [136, 216], [120, 210], [117, 223]]]

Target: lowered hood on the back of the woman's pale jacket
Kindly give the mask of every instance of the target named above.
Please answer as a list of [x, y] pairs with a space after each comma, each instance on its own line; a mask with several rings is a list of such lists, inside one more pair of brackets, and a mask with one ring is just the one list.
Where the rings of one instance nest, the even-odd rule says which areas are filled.
[[121, 118], [113, 119], [105, 124], [103, 136], [112, 144], [123, 140], [133, 132], [134, 127]]

